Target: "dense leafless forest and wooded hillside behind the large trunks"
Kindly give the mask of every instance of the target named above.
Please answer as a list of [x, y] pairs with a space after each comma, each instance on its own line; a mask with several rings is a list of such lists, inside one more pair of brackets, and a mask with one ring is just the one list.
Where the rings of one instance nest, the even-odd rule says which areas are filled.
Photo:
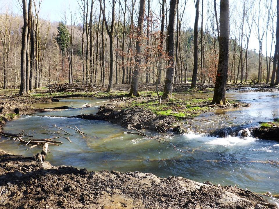
[[[110, 90], [113, 84], [132, 83], [135, 73], [139, 83], [158, 80], [160, 85], [170, 62], [175, 66], [174, 86], [187, 81], [193, 87], [197, 82], [215, 83], [220, 32], [219, 5], [214, 0], [194, 2], [194, 28], [185, 17], [189, 0], [177, 1], [172, 11], [175, 13], [173, 61], [168, 50], [168, 37], [172, 33], [168, 28], [171, 21], [168, 0], [146, 0], [140, 28], [137, 21], [142, 8], [136, 0], [78, 1], [78, 10], [66, 9], [65, 18], [59, 22], [40, 17], [44, 1], [23, 3], [24, 18], [13, 14], [8, 6], [1, 12], [0, 87], [3, 89], [18, 89], [25, 76], [26, 92], [64, 82], [104, 85]], [[252, 80], [278, 84], [278, 76], [274, 79], [273, 75], [277, 72], [276, 65], [273, 70], [274, 46], [278, 45], [276, 14], [276, 1], [230, 2], [228, 82]], [[258, 43], [253, 44], [259, 46], [259, 51], [249, 48], [251, 36], [257, 37]], [[21, 66], [23, 37], [26, 67]]]

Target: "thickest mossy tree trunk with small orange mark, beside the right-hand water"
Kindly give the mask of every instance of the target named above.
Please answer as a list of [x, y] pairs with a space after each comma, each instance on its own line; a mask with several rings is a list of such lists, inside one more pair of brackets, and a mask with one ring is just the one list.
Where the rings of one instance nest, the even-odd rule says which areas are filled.
[[226, 104], [226, 82], [229, 62], [229, 0], [220, 2], [219, 61], [212, 104]]

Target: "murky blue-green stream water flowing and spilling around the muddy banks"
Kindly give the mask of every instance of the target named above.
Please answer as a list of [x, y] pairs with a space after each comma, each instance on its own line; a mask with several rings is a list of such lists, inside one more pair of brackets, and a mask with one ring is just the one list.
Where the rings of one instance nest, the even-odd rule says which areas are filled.
[[[200, 95], [177, 95], [177, 97], [205, 97]], [[273, 96], [271, 96], [273, 95]], [[209, 94], [208, 96], [211, 97]], [[211, 181], [220, 185], [236, 185], [257, 193], [271, 192], [279, 194], [279, 143], [271, 140], [259, 140], [251, 136], [230, 136], [221, 138], [206, 134], [217, 129], [241, 129], [257, 125], [259, 121], [278, 118], [279, 94], [231, 91], [229, 99], [250, 102], [251, 107], [240, 109], [215, 110], [195, 118], [193, 130], [198, 133], [176, 134], [158, 141], [139, 135], [127, 134], [126, 129], [110, 122], [67, 118], [81, 112], [96, 113], [98, 106], [108, 101], [94, 98], [67, 98], [58, 103], [36, 104], [34, 106], [81, 107], [84, 103], [93, 103], [94, 107], [69, 109], [36, 113], [21, 116], [7, 122], [4, 131], [25, 133], [34, 138], [51, 138], [57, 134], [45, 134], [40, 126], [63, 133], [51, 125], [57, 125], [74, 136], [69, 136], [72, 143], [65, 138], [60, 146], [49, 146], [51, 152], [47, 160], [53, 165], [71, 165], [87, 170], [117, 170], [121, 172], [151, 172], [160, 177], [182, 176], [198, 182]], [[69, 127], [78, 127], [86, 135], [83, 138]], [[228, 131], [228, 133], [231, 131]], [[146, 131], [149, 136], [158, 133]], [[63, 135], [61, 135], [63, 136]], [[0, 143], [2, 149], [14, 154], [30, 156], [40, 152], [40, 147], [29, 149], [13, 140]], [[184, 152], [175, 150], [177, 149]], [[269, 199], [279, 205], [278, 199]]]

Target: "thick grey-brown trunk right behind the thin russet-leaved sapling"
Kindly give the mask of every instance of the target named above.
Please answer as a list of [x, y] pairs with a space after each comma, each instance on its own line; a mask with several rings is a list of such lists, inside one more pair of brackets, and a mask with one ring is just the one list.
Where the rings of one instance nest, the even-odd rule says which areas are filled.
[[[197, 0], [198, 1], [198, 0]], [[175, 15], [176, 15], [176, 0], [170, 0], [169, 3], [169, 26], [168, 26], [168, 69], [166, 72], [166, 79], [164, 85], [164, 92], [162, 98], [171, 98], [172, 89], [174, 84], [174, 25], [175, 25]]]

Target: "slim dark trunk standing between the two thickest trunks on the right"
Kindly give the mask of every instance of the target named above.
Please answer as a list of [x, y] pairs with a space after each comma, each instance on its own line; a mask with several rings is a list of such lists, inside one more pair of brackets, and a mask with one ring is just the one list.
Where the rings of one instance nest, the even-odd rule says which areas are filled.
[[192, 75], [191, 87], [196, 87], [198, 75], [198, 14], [200, 0], [196, 0], [196, 19], [194, 25], [194, 69]]

